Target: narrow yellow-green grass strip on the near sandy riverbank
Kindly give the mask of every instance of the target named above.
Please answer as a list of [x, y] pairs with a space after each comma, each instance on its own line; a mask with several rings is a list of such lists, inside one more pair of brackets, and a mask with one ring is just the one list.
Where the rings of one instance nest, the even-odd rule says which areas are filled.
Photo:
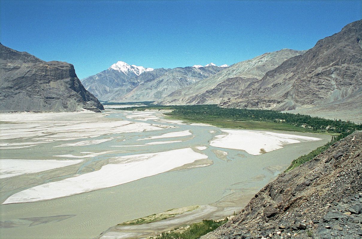
[[152, 214], [150, 216], [147, 217], [141, 217], [132, 221], [127, 221], [127, 222], [122, 222], [118, 225], [120, 226], [124, 226], [124, 225], [138, 225], [138, 224], [144, 224], [144, 223], [150, 223], [150, 222], [155, 222], [155, 221], [160, 221], [160, 220], [164, 220], [167, 218], [171, 218], [174, 217], [176, 215], [180, 215], [182, 213], [185, 212], [191, 212], [195, 209], [198, 209], [199, 206], [189, 206], [189, 207], [185, 207], [185, 208], [177, 208], [177, 209], [170, 209], [167, 210], [165, 212], [161, 212], [161, 213], [157, 213], [157, 214]]

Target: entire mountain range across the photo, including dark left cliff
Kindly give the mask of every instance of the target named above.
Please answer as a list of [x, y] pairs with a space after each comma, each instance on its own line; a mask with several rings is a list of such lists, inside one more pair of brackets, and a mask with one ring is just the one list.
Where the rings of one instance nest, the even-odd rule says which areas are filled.
[[231, 66], [153, 69], [118, 61], [81, 82], [71, 64], [45, 62], [1, 45], [0, 110], [99, 111], [98, 97], [112, 102], [273, 109], [358, 123], [362, 122], [361, 39], [359, 20], [308, 51], [281, 49]]

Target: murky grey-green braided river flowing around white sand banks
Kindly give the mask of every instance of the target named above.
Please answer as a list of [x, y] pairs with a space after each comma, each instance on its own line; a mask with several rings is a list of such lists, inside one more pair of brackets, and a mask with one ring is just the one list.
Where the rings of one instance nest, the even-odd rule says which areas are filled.
[[[108, 110], [104, 113], [107, 115], [100, 116], [101, 114], [99, 114], [96, 117], [93, 113], [83, 114], [81, 117], [77, 113], [44, 114], [44, 117], [39, 117], [39, 114], [36, 117], [34, 114], [24, 114], [26, 122], [14, 119], [14, 117], [8, 119], [8, 115], [1, 116], [2, 121], [8, 121], [2, 124], [2, 127], [8, 128], [8, 135], [11, 135], [10, 132], [13, 131], [13, 134], [17, 134], [17, 136], [5, 136], [1, 138], [0, 143], [20, 145], [24, 142], [41, 142], [39, 144], [22, 144], [29, 146], [26, 148], [12, 148], [5, 145], [1, 149], [1, 159], [83, 160], [80, 163], [62, 168], [1, 178], [1, 202], [4, 203], [16, 193], [45, 183], [54, 183], [79, 177], [79, 175], [94, 173], [110, 164], [110, 159], [113, 157], [191, 148], [198, 155], [206, 155], [208, 160], [212, 161], [212, 165], [206, 166], [207, 164], [205, 165], [203, 162], [196, 168], [167, 171], [118, 186], [72, 196], [0, 205], [1, 238], [94, 238], [117, 223], [172, 208], [213, 203], [230, 194], [232, 185], [260, 175], [263, 175], [262, 179], [253, 182], [250, 187], [261, 188], [265, 186], [277, 173], [285, 170], [292, 160], [325, 144], [331, 138], [327, 135], [273, 131], [316, 137], [320, 140], [286, 144], [281, 149], [260, 155], [251, 155], [240, 149], [211, 146], [210, 141], [215, 139], [215, 136], [226, 134], [218, 127], [169, 121], [169, 119], [164, 118], [162, 112], [147, 112], [144, 115], [125, 110]], [[133, 132], [118, 132], [107, 129], [107, 125], [121, 120], [139, 123], [137, 126], [140, 129], [139, 132], [135, 132], [135, 130], [129, 130]], [[105, 126], [98, 128], [98, 121]], [[92, 135], [88, 134], [89, 132], [87, 135], [84, 133], [85, 131], [82, 131], [79, 132], [79, 139], [67, 138], [70, 132], [75, 132], [74, 135], [76, 135], [77, 127], [82, 125], [82, 122], [93, 122], [96, 125], [91, 130]], [[55, 134], [52, 127], [57, 125], [69, 126], [70, 130], [60, 132], [58, 128], [58, 133]], [[151, 130], [146, 125], [155, 128]], [[113, 125], [112, 127], [116, 126]], [[48, 131], [41, 132], [43, 129]], [[147, 131], [144, 131], [145, 129]], [[56, 129], [54, 128], [54, 130]], [[99, 136], [96, 134], [97, 130]], [[181, 131], [188, 131], [191, 134], [172, 138], [145, 139], [168, 132]], [[60, 133], [63, 134], [63, 138], [59, 136]], [[52, 138], [50, 135], [55, 136]], [[84, 140], [100, 140], [99, 142], [103, 140], [104, 142], [95, 142], [97, 144], [93, 142], [89, 145], [64, 145]], [[168, 141], [174, 142], [147, 144]], [[59, 147], [60, 145], [62, 147]], [[130, 145], [133, 146], [112, 147]], [[226, 152], [227, 156], [220, 157], [220, 154], [214, 153], [215, 150]], [[69, 157], [69, 155], [75, 157]], [[85, 155], [88, 157], [81, 157]], [[182, 158], [182, 155], [175, 155], [175, 160], [180, 157]], [[275, 166], [281, 167], [276, 171], [270, 170]], [[103, 177], [107, 177], [107, 175]], [[99, 180], [104, 180], [104, 178]], [[52, 186], [53, 184], [49, 185]], [[49, 194], [52, 194], [52, 190], [54, 191], [50, 187]]]

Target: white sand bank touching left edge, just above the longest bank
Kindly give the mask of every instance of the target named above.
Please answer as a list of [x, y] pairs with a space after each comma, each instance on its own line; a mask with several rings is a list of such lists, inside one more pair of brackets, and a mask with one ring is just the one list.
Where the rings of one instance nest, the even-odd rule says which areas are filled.
[[41, 171], [62, 168], [78, 164], [83, 160], [28, 160], [28, 159], [1, 159], [0, 178], [9, 178], [21, 174], [38, 173]]

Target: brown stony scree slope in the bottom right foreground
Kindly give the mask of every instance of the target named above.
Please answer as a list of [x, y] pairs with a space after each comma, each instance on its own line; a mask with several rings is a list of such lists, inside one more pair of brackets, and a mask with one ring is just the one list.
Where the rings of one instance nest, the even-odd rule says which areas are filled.
[[280, 174], [235, 218], [201, 238], [282, 237], [362, 237], [362, 131]]

